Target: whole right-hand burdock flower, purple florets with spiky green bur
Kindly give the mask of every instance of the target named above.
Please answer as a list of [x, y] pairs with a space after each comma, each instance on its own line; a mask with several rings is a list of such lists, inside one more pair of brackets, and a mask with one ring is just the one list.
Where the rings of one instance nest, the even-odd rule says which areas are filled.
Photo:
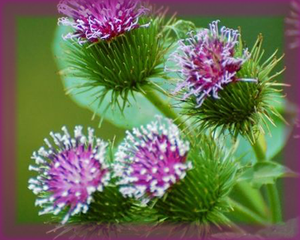
[[218, 21], [181, 41], [171, 57], [179, 66], [174, 71], [183, 77], [175, 93], [192, 126], [229, 132], [234, 139], [242, 135], [253, 144], [269, 122], [274, 124], [274, 116], [282, 118], [273, 107], [281, 97], [278, 87], [284, 86], [275, 80], [284, 69], [273, 73], [282, 57], [275, 51], [264, 60], [262, 43], [259, 35], [248, 53], [239, 32], [226, 27], [219, 31]]

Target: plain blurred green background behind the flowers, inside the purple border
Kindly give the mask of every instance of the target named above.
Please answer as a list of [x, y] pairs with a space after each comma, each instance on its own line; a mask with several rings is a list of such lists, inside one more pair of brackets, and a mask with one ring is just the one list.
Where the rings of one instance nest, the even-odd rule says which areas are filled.
[[[264, 35], [266, 56], [283, 49], [283, 18], [222, 18], [183, 17], [198, 27], [207, 27], [212, 20], [230, 28], [242, 28], [243, 39], [249, 48], [259, 33]], [[121, 140], [124, 130], [105, 122], [98, 129], [99, 118], [91, 121], [92, 112], [80, 108], [65, 95], [52, 53], [57, 19], [55, 17], [19, 17], [17, 19], [17, 223], [39, 223], [47, 216], [38, 216], [35, 196], [28, 190], [28, 171], [33, 163], [32, 152], [38, 150], [50, 131], [60, 131], [66, 125], [92, 126], [97, 136]]]

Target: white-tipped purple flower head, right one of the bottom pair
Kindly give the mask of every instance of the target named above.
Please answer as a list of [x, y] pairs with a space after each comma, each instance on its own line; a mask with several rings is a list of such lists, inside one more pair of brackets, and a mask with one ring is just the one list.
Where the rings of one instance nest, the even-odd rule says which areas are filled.
[[186, 162], [188, 151], [189, 143], [180, 138], [178, 127], [160, 116], [146, 128], [127, 131], [114, 166], [120, 192], [145, 203], [162, 197], [191, 168], [191, 162]]

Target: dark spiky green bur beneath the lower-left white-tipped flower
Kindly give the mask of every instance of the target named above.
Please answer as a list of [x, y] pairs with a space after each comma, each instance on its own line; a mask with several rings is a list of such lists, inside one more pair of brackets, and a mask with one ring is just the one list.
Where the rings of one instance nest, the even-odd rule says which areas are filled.
[[[153, 222], [153, 211], [130, 198], [124, 198], [119, 189], [109, 186], [93, 194], [94, 201], [87, 213], [71, 216], [68, 223], [53, 230], [58, 236], [75, 238], [111, 238], [132, 228], [135, 224]], [[51, 222], [60, 222], [65, 212], [53, 216]], [[131, 229], [130, 231], [133, 231]]]

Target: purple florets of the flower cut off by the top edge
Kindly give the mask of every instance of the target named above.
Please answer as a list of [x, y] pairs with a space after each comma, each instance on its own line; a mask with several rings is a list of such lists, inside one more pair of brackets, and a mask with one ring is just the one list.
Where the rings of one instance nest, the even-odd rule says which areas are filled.
[[68, 16], [58, 19], [58, 24], [74, 29], [64, 39], [77, 38], [81, 44], [110, 41], [141, 27], [139, 17], [148, 9], [140, 6], [139, 0], [62, 0], [58, 11]]

